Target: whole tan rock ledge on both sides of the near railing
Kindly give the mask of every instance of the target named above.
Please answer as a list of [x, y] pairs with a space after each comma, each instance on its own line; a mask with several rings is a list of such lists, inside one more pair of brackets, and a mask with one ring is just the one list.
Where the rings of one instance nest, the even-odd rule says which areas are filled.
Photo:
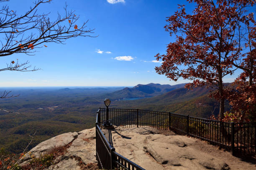
[[[195, 138], [152, 134], [150, 128], [116, 128], [112, 136], [116, 151], [146, 170], [253, 170], [252, 163], [241, 161], [230, 153]], [[64, 133], [38, 144], [29, 153], [38, 157], [53, 147], [68, 145], [67, 153], [49, 169], [80, 170], [82, 164], [96, 163], [95, 128]], [[21, 165], [29, 162], [29, 154]]]

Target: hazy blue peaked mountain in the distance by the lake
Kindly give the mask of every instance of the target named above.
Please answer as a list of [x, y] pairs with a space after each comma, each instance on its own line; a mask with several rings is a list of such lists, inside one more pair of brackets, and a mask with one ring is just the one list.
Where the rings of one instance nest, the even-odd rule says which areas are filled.
[[132, 88], [125, 87], [122, 90], [107, 93], [105, 94], [105, 96], [110, 98], [110, 100], [121, 100], [125, 98], [133, 98], [133, 97], [151, 97], [151, 96], [161, 95], [178, 88], [184, 88], [185, 84], [186, 83], [178, 84], [178, 85], [160, 85], [160, 84], [154, 84], [154, 83], [149, 83], [147, 85], [138, 84]]

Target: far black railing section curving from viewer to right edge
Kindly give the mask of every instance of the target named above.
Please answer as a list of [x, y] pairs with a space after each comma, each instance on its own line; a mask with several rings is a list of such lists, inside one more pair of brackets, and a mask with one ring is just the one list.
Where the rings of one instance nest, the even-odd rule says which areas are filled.
[[[172, 130], [178, 135], [189, 135], [219, 145], [233, 155], [256, 153], [256, 122], [229, 123], [171, 112], [140, 109], [109, 108], [113, 125], [120, 127], [151, 127]], [[100, 108], [100, 120], [106, 119], [106, 109]]]

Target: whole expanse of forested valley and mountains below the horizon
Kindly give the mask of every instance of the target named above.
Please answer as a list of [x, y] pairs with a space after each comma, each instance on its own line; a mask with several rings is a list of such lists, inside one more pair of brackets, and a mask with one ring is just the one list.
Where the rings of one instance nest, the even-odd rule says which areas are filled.
[[112, 100], [110, 107], [174, 112], [205, 118], [212, 113], [218, 114], [218, 102], [207, 96], [210, 89], [198, 87], [187, 90], [184, 84], [170, 86], [151, 83], [132, 88], [13, 89], [13, 93], [20, 93], [19, 97], [0, 101], [1, 108], [10, 111], [0, 111], [0, 148], [20, 153], [31, 140], [29, 135], [35, 132], [29, 148], [61, 133], [92, 128], [98, 107], [105, 107], [105, 98], [128, 97], [126, 93], [121, 93], [127, 89], [132, 89], [129, 97], [136, 97], [136, 92], [141, 92], [139, 96], [145, 97], [148, 93], [144, 91], [143, 94], [142, 91], [148, 90], [148, 87], [157, 91], [152, 93], [154, 95], [165, 93], [139, 100]]

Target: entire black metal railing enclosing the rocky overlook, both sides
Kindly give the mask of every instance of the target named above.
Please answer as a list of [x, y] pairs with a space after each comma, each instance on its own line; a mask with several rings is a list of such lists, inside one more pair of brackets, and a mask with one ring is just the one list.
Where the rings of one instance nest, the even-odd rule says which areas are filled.
[[[96, 158], [100, 168], [112, 170], [144, 170], [131, 160], [115, 152], [100, 129], [106, 119], [106, 108], [100, 108], [96, 117]], [[189, 135], [219, 145], [236, 154], [256, 153], [256, 122], [229, 123], [171, 112], [139, 109], [112, 109], [108, 111], [111, 123], [120, 127], [151, 127], [172, 130], [178, 135]]]

